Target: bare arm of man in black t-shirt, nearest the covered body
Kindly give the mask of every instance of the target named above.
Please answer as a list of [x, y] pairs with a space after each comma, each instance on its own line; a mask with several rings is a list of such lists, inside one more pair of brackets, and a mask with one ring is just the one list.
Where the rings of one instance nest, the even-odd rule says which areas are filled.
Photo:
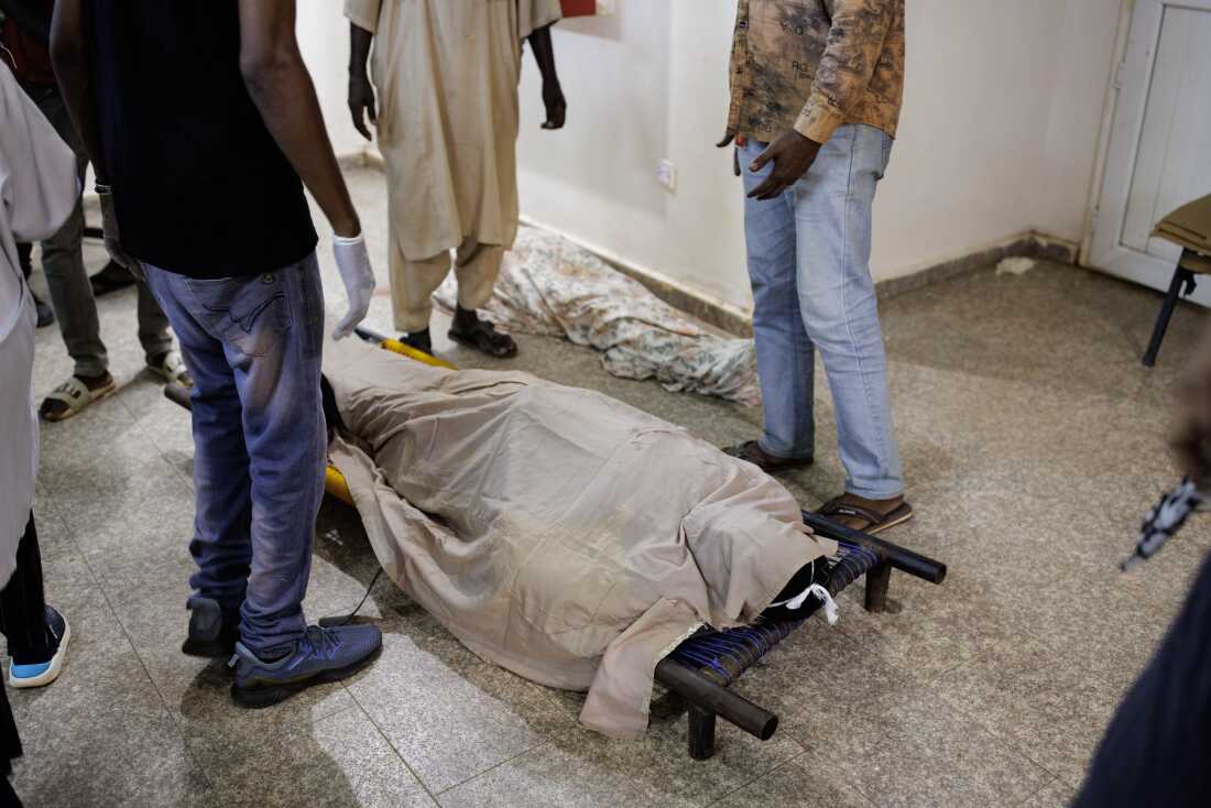
[[265, 127], [333, 231], [343, 237], [357, 236], [361, 222], [294, 39], [294, 0], [240, 0], [240, 70]]

